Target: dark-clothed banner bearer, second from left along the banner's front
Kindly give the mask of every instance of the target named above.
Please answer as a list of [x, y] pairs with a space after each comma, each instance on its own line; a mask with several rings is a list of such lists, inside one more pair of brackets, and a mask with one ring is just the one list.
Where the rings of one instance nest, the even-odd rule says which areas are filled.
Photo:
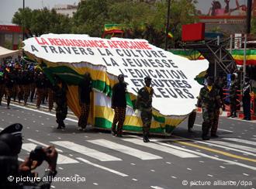
[[92, 91], [92, 78], [89, 73], [84, 74], [84, 78], [78, 86], [78, 100], [81, 106], [81, 115], [78, 120], [78, 129], [85, 131], [90, 113], [90, 94]]

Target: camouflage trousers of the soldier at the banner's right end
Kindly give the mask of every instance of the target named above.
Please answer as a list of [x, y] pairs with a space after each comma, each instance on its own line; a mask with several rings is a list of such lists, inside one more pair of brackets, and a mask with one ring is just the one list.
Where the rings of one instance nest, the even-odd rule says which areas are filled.
[[209, 129], [213, 126], [214, 121], [214, 110], [209, 110], [208, 108], [202, 108], [202, 136], [207, 136]]

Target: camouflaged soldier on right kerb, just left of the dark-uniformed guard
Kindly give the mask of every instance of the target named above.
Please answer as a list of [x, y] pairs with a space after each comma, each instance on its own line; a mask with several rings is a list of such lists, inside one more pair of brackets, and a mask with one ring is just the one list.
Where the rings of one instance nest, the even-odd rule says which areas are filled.
[[232, 118], [237, 117], [237, 81], [236, 75], [231, 75], [231, 85], [230, 85], [230, 116]]

